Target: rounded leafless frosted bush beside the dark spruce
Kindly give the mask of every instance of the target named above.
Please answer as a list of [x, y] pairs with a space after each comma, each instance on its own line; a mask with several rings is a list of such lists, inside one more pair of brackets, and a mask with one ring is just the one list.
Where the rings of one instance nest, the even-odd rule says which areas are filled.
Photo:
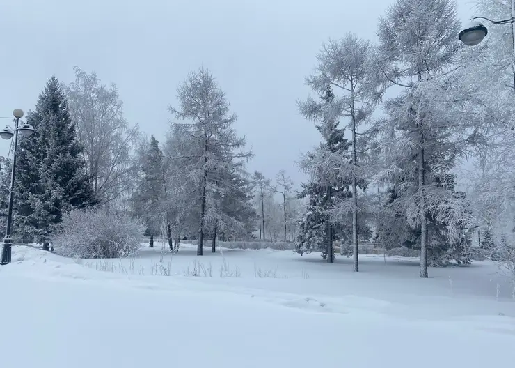
[[109, 213], [102, 208], [72, 210], [54, 236], [56, 252], [72, 258], [134, 256], [145, 226], [141, 220]]

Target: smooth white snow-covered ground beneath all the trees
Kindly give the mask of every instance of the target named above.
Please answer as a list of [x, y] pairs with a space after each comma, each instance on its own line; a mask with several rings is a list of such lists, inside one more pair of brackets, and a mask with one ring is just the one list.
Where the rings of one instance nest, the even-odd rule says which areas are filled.
[[361, 256], [356, 274], [340, 256], [195, 254], [158, 245], [72, 260], [14, 247], [0, 267], [0, 367], [513, 365], [513, 288], [488, 262], [419, 279], [415, 259]]

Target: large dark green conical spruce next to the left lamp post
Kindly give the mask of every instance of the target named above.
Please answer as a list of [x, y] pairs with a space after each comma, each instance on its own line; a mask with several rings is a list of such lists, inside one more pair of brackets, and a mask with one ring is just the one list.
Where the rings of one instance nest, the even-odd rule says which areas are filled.
[[63, 213], [92, 205], [93, 192], [56, 77], [47, 82], [27, 122], [35, 132], [19, 141], [16, 227], [24, 238], [33, 238], [48, 250]]

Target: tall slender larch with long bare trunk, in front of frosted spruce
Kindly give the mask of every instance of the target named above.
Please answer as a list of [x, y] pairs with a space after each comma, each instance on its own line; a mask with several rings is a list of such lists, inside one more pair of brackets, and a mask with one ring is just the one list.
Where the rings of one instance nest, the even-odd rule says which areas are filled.
[[369, 120], [374, 111], [372, 45], [349, 33], [340, 40], [330, 40], [324, 44], [317, 61], [315, 72], [306, 81], [308, 86], [317, 93], [324, 93], [331, 86], [335, 93], [329, 101], [318, 102], [309, 98], [300, 104], [300, 109], [306, 118], [322, 121], [319, 130], [325, 137], [331, 134], [335, 121], [348, 123], [351, 132], [350, 160], [347, 155], [340, 157], [336, 152], [336, 155], [326, 155], [317, 166], [326, 162], [329, 167], [338, 167], [335, 174], [340, 176], [340, 180], [351, 181], [351, 201], [343, 199], [337, 202], [334, 214], [335, 220], [343, 222], [351, 213], [354, 271], [358, 272], [358, 182], [363, 181], [365, 176], [358, 159], [366, 150], [366, 139], [358, 137], [358, 128]]

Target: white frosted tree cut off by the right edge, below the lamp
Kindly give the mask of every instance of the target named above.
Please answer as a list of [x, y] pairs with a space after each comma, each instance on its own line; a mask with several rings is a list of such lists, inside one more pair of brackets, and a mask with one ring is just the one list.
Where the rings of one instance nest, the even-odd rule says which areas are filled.
[[[492, 20], [512, 17], [511, 0], [477, 0], [477, 15]], [[464, 75], [475, 98], [477, 116], [493, 127], [488, 155], [477, 158], [473, 181], [480, 245], [489, 259], [499, 261], [515, 280], [515, 90], [512, 27], [492, 26], [480, 45], [468, 47], [473, 59]]]

